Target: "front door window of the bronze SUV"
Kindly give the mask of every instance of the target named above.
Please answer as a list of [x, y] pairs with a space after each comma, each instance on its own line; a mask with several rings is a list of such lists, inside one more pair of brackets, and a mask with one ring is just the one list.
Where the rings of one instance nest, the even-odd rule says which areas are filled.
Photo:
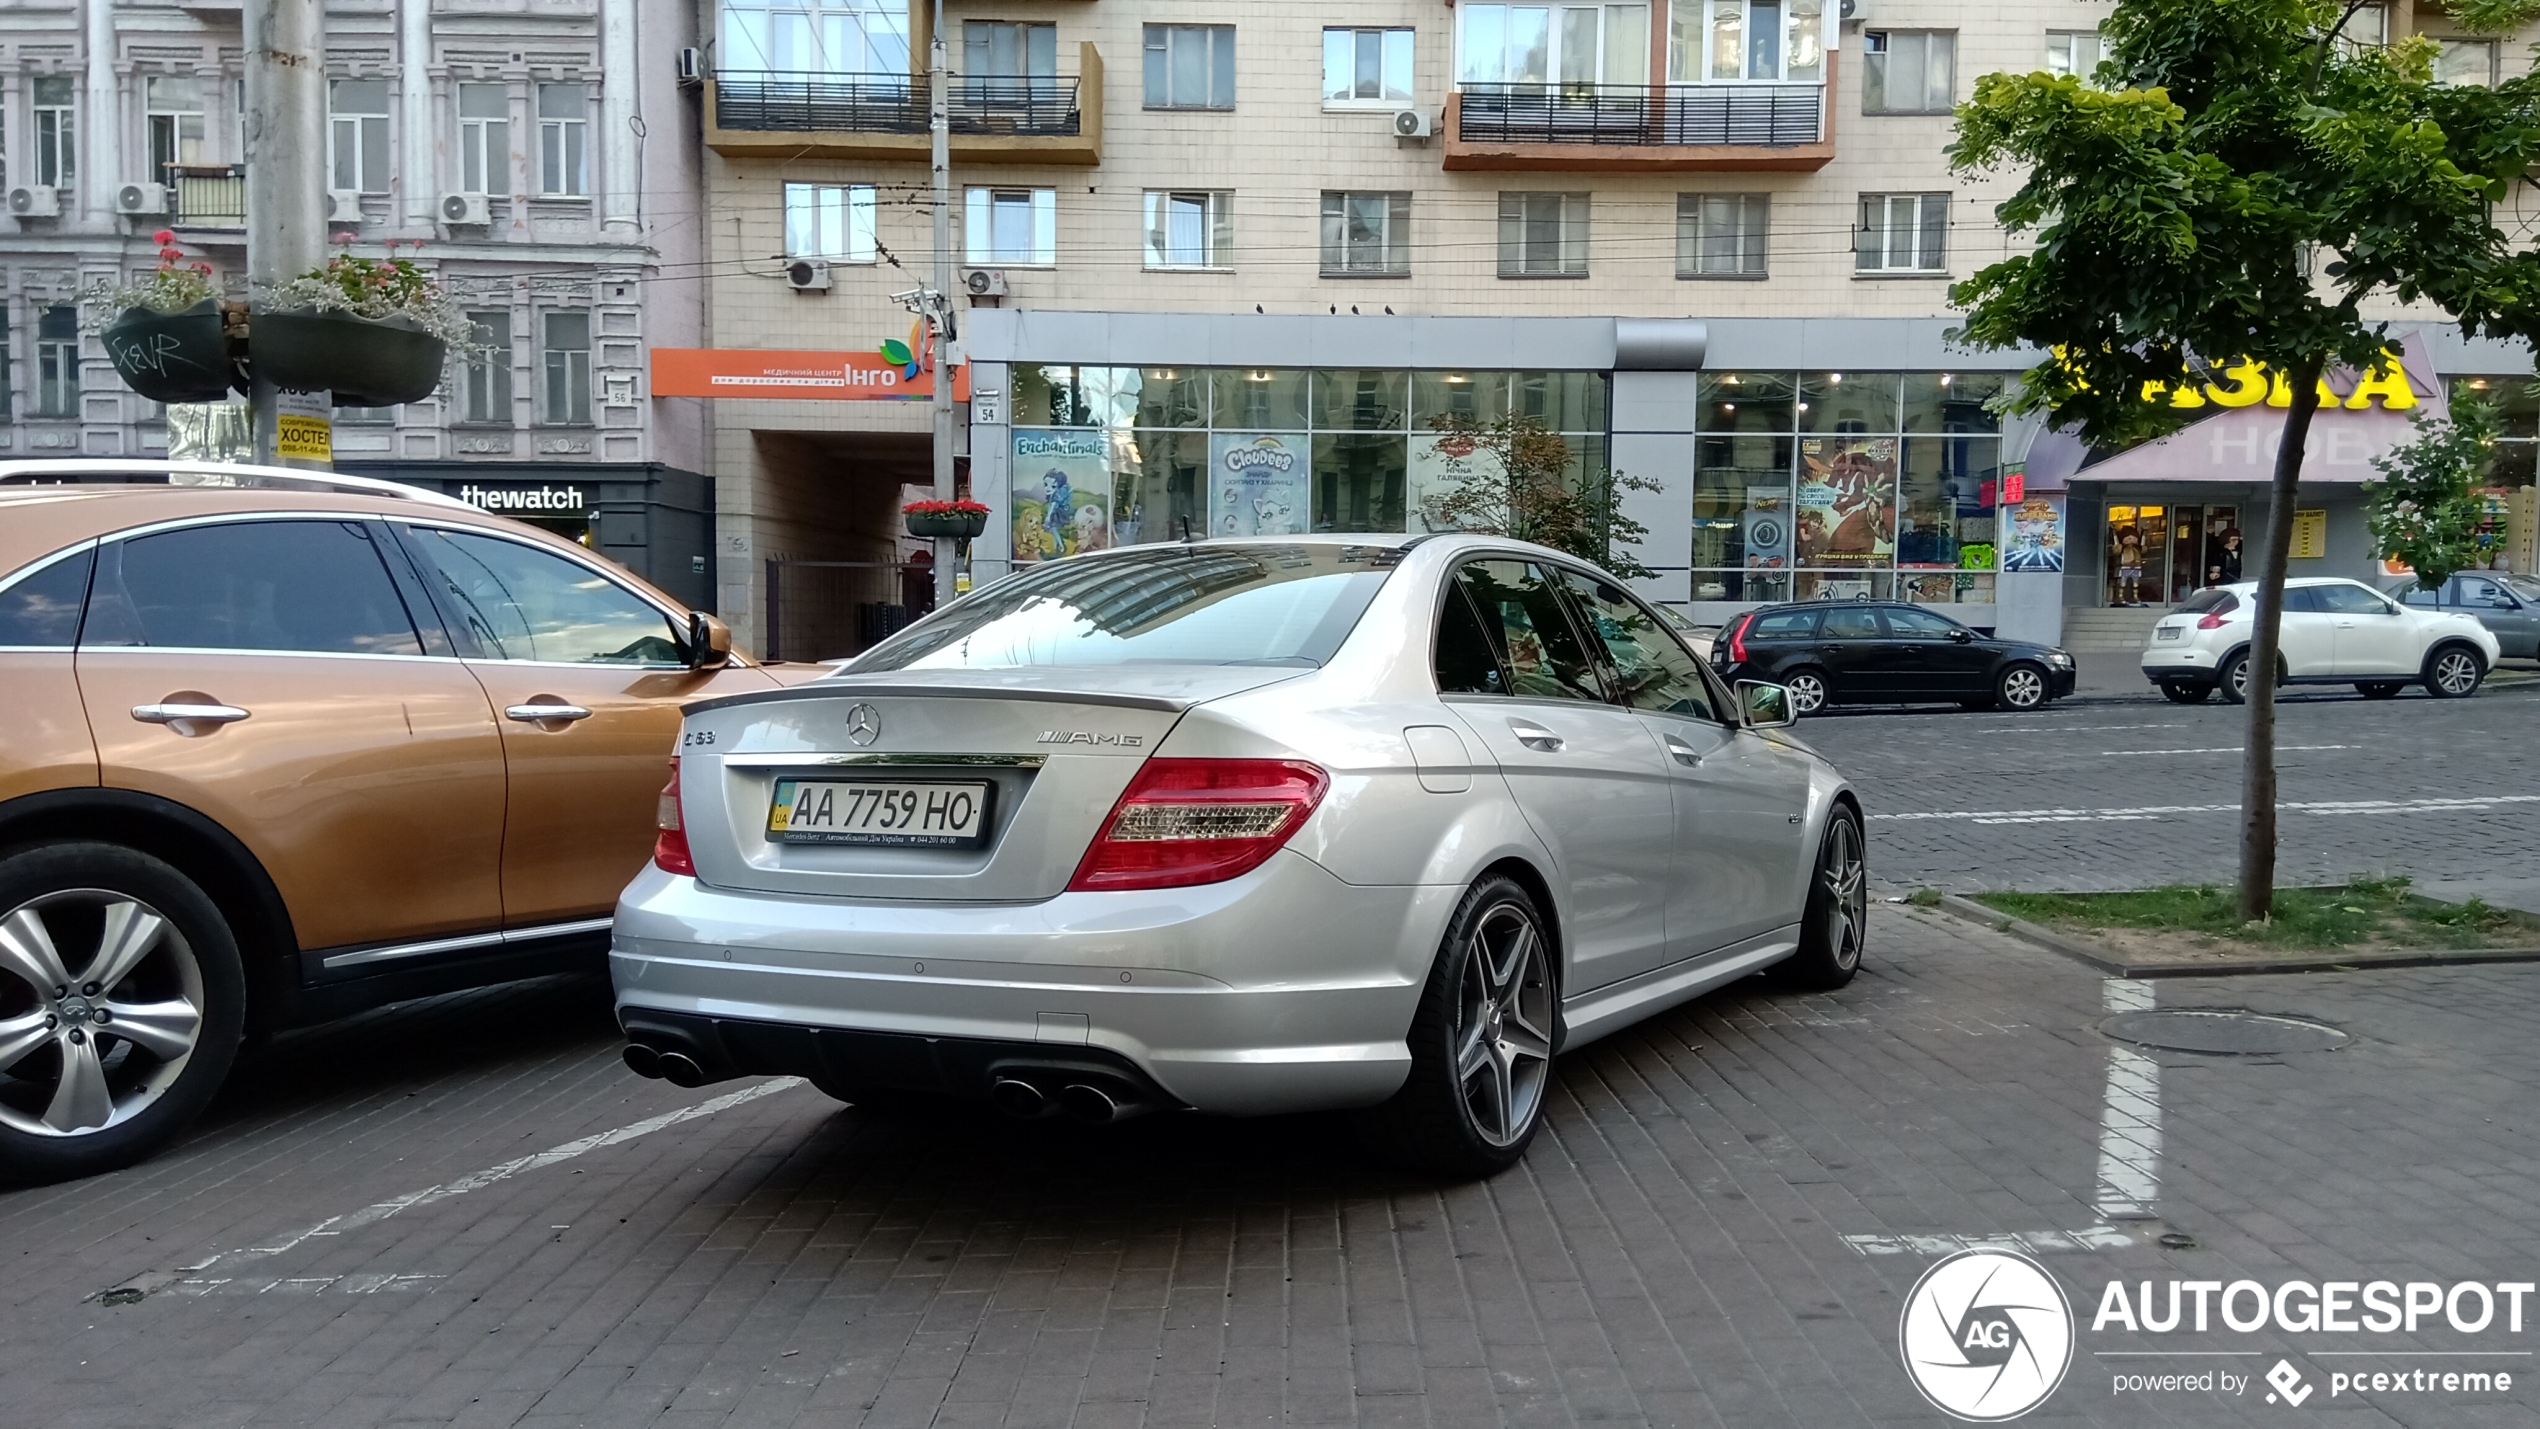
[[678, 627], [617, 581], [500, 536], [409, 528], [424, 579], [485, 660], [686, 665]]

